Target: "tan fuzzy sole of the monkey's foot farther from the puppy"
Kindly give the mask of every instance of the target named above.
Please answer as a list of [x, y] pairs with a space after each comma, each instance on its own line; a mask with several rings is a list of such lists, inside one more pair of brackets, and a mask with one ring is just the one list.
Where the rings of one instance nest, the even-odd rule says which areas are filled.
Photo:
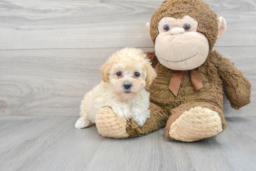
[[169, 135], [179, 141], [197, 141], [222, 132], [221, 118], [216, 111], [195, 106], [171, 124]]

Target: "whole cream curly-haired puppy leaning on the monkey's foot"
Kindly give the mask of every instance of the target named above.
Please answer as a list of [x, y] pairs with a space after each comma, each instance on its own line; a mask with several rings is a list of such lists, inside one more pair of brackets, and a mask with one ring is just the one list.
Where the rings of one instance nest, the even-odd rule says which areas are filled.
[[88, 92], [75, 124], [78, 129], [95, 123], [101, 107], [111, 107], [120, 119], [133, 118], [140, 126], [150, 117], [149, 92], [156, 77], [150, 60], [141, 49], [125, 48], [110, 56], [102, 66], [102, 82]]

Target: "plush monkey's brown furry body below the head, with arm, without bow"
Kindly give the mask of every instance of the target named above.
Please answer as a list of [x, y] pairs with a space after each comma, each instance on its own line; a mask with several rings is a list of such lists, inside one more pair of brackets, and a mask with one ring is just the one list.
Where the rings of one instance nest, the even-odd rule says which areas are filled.
[[[161, 65], [154, 52], [148, 52], [157, 77], [150, 86], [150, 118], [139, 127], [132, 119], [127, 122], [126, 131], [129, 137], [139, 136], [169, 126], [185, 110], [194, 106], [202, 106], [217, 111], [221, 117], [222, 129], [226, 129], [226, 121], [222, 114], [223, 92], [225, 91], [233, 108], [250, 103], [251, 83], [236, 69], [227, 58], [216, 51], [210, 51], [205, 63], [200, 67], [203, 88], [194, 91], [189, 71], [185, 71], [178, 96], [168, 89], [173, 70]], [[222, 81], [223, 80], [223, 81]], [[228, 82], [228, 84], [226, 84]], [[235, 93], [237, 92], [237, 93]]]

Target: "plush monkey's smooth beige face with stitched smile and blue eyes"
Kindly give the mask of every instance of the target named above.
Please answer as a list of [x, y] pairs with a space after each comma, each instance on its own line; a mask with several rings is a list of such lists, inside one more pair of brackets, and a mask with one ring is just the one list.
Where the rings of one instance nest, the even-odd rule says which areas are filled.
[[186, 15], [183, 18], [163, 17], [155, 40], [158, 61], [173, 70], [190, 70], [202, 65], [209, 52], [207, 38], [197, 32], [198, 23]]

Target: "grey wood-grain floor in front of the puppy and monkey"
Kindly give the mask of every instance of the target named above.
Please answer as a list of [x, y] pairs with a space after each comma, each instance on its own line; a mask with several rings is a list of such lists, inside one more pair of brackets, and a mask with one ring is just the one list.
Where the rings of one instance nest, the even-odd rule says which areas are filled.
[[179, 142], [160, 129], [111, 139], [78, 117], [1, 116], [0, 170], [255, 170], [255, 117], [228, 117], [228, 129], [198, 142]]

